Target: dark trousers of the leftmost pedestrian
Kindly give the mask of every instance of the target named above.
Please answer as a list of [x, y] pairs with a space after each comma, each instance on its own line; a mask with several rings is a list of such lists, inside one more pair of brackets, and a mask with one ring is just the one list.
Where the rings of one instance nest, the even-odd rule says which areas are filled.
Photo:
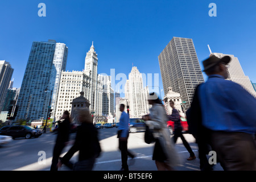
[[[57, 163], [59, 162], [59, 157], [61, 152], [63, 151], [63, 148], [65, 147], [65, 143], [56, 143], [53, 149], [53, 156], [52, 156], [52, 166], [51, 171], [57, 171]], [[73, 168], [73, 164], [71, 162], [65, 163], [65, 165], [69, 168]]]

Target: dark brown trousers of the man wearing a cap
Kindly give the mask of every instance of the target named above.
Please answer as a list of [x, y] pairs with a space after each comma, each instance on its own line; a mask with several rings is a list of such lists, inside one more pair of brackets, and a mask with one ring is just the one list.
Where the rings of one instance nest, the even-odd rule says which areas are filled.
[[256, 144], [253, 135], [213, 131], [212, 148], [225, 171], [256, 170]]

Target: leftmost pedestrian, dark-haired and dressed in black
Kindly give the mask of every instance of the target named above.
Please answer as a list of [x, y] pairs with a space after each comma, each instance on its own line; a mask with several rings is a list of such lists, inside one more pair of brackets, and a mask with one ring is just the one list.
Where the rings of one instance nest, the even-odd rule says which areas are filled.
[[[67, 110], [64, 111], [62, 117], [59, 121], [57, 121], [57, 123], [59, 127], [57, 131], [56, 143], [53, 149], [51, 171], [57, 171], [57, 163], [59, 162], [60, 154], [69, 140], [69, 125], [71, 123], [71, 118], [69, 117], [69, 112]], [[69, 168], [72, 168], [71, 163], [65, 164]]]

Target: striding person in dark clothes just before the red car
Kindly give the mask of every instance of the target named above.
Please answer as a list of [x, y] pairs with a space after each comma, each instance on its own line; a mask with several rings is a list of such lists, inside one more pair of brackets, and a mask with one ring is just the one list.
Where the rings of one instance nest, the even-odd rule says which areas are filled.
[[168, 118], [174, 122], [174, 143], [177, 142], [177, 138], [180, 137], [180, 139], [182, 140], [185, 148], [187, 148], [190, 156], [187, 160], [193, 160], [193, 159], [196, 159], [196, 156], [194, 154], [194, 152], [192, 151], [191, 147], [189, 146], [187, 140], [184, 138], [183, 134], [182, 134], [182, 126], [181, 126], [181, 123], [180, 123], [180, 114], [179, 114], [179, 111], [177, 111], [177, 109], [175, 109], [174, 107], [174, 101], [170, 101], [170, 106], [172, 107], [172, 114], [171, 115], [168, 115]]

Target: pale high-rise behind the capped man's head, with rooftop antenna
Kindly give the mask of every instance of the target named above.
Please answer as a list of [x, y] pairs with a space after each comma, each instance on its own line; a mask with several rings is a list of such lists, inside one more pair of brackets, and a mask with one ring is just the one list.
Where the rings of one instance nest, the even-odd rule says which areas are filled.
[[227, 80], [231, 80], [233, 82], [236, 82], [237, 84], [240, 84], [244, 89], [247, 90], [247, 92], [249, 92], [256, 98], [256, 92], [253, 88], [253, 85], [251, 85], [249, 77], [245, 76], [245, 73], [243, 73], [243, 69], [237, 57], [235, 57], [234, 55], [226, 55], [224, 53], [211, 53], [210, 56], [212, 55], [215, 55], [219, 58], [224, 56], [230, 56], [230, 67], [228, 68], [229, 77], [227, 78]]

